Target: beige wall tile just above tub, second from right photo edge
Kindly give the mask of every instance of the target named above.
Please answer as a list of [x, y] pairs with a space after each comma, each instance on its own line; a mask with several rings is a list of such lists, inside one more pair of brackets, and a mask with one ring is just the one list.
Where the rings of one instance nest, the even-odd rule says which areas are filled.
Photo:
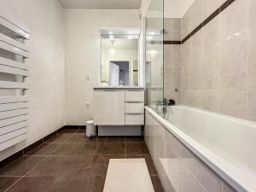
[[247, 90], [219, 90], [219, 112], [246, 119]]

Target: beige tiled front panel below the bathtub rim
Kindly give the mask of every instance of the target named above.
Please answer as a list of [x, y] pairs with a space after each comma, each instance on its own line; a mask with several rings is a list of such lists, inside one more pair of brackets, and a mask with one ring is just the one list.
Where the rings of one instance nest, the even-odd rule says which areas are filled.
[[156, 119], [146, 113], [145, 137], [165, 192], [236, 192]]

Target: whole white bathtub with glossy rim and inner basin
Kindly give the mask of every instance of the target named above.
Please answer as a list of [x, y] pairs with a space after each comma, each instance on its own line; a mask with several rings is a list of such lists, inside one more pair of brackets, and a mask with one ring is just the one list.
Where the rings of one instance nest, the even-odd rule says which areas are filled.
[[186, 106], [166, 119], [146, 111], [234, 189], [256, 191], [256, 123]]

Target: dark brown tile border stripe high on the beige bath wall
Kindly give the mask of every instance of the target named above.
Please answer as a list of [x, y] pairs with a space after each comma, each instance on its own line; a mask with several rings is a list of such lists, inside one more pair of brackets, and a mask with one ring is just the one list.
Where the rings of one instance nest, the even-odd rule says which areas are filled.
[[223, 3], [217, 10], [215, 10], [212, 15], [208, 16], [206, 20], [202, 21], [201, 24], [195, 27], [195, 29], [189, 33], [182, 41], [164, 41], [164, 44], [184, 44], [189, 38], [195, 35], [196, 32], [200, 31], [201, 28], [206, 26], [211, 20], [213, 20], [216, 16], [218, 16], [224, 9], [227, 9], [231, 3], [235, 2], [236, 0], [227, 0]]

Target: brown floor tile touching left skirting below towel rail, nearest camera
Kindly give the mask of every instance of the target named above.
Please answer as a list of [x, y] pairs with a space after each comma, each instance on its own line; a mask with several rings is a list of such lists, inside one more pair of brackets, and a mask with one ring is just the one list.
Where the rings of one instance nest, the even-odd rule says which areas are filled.
[[34, 166], [38, 165], [45, 157], [40, 156], [24, 156], [15, 160], [8, 166], [0, 170], [2, 176], [23, 176]]

